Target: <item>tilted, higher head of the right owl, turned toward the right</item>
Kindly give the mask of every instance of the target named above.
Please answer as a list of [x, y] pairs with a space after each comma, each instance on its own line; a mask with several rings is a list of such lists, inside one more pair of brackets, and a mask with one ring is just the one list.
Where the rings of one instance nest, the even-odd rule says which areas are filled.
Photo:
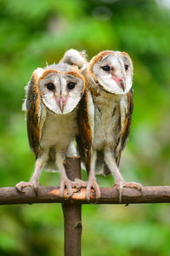
[[116, 95], [125, 95], [133, 84], [133, 63], [127, 53], [105, 50], [90, 61], [88, 73], [95, 86]]

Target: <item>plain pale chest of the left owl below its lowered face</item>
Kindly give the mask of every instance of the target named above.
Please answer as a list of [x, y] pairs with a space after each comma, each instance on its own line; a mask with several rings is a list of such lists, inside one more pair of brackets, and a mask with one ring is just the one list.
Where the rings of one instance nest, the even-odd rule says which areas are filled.
[[42, 147], [52, 147], [57, 149], [67, 148], [71, 138], [77, 134], [77, 113], [66, 115], [56, 115], [47, 113], [45, 123], [42, 127]]

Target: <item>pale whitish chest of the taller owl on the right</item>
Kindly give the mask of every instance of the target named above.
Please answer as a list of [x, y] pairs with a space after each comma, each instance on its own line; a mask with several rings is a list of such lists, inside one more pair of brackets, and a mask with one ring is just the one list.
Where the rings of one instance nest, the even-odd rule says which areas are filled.
[[95, 101], [94, 148], [97, 150], [111, 145], [114, 148], [116, 137], [121, 132], [120, 104], [113, 97]]

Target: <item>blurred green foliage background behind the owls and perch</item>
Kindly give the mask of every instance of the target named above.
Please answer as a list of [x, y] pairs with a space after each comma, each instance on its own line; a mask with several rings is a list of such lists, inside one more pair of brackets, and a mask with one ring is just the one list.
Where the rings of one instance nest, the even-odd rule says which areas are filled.
[[[24, 86], [37, 67], [66, 49], [127, 51], [134, 65], [134, 112], [121, 171], [127, 181], [170, 181], [170, 1], [0, 1], [0, 180], [14, 186], [34, 166], [21, 112]], [[86, 174], [83, 173], [83, 178]], [[99, 177], [110, 186], [111, 177]], [[43, 172], [43, 185], [59, 175]], [[63, 255], [59, 204], [0, 208], [0, 255]], [[160, 205], [82, 207], [82, 256], [170, 255], [170, 208]]]

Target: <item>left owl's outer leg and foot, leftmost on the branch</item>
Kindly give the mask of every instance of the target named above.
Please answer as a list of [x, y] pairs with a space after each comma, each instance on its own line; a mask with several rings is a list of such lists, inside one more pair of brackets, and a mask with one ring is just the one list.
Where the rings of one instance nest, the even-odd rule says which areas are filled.
[[30, 181], [29, 182], [21, 181], [20, 183], [17, 183], [15, 185], [15, 188], [17, 190], [23, 192], [22, 189], [24, 189], [26, 187], [33, 187], [35, 189], [35, 191], [37, 192], [37, 188], [40, 186], [40, 183], [38, 180], [39, 180], [40, 174], [42, 172], [42, 168], [45, 165], [47, 160], [48, 160], [48, 150], [46, 148], [46, 149], [43, 149], [41, 151], [41, 153], [39, 154], [39, 156], [37, 157], [35, 170], [31, 176]]

